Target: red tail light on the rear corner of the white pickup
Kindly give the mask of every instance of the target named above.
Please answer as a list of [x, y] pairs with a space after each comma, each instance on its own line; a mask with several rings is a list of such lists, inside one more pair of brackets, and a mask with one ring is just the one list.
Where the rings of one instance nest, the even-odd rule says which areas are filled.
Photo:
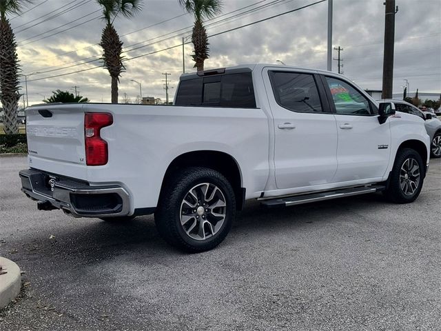
[[107, 142], [101, 139], [101, 128], [113, 123], [112, 114], [107, 112], [86, 112], [84, 114], [85, 163], [105, 165], [109, 159]]

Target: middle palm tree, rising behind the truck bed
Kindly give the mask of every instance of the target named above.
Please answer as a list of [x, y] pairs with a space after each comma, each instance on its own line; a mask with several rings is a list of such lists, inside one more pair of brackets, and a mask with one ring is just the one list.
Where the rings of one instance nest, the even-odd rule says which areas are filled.
[[136, 12], [141, 10], [141, 0], [96, 0], [103, 8], [103, 17], [106, 26], [101, 34], [101, 43], [103, 48], [103, 57], [101, 58], [104, 67], [109, 70], [112, 77], [112, 103], [118, 103], [118, 83], [121, 72], [125, 70], [123, 65], [123, 42], [119, 39], [113, 22], [119, 14], [124, 17], [133, 17]]

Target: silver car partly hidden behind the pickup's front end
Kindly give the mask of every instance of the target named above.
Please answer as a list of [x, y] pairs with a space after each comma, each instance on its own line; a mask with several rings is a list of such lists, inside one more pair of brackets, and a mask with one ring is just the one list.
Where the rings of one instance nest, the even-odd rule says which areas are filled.
[[427, 134], [429, 134], [431, 141], [431, 157], [441, 157], [441, 121], [430, 112], [422, 112], [422, 110], [416, 108], [411, 103], [403, 100], [393, 99], [381, 99], [379, 103], [391, 102], [395, 104], [397, 112], [407, 112], [407, 114], [413, 114], [424, 119]]

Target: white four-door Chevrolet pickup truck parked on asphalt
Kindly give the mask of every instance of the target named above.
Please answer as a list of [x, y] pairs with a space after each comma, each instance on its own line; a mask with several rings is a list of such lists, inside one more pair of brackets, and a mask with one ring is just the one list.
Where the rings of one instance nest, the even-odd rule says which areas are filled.
[[39, 210], [154, 213], [161, 236], [190, 252], [223, 241], [245, 200], [383, 191], [409, 203], [429, 167], [422, 119], [341, 75], [265, 64], [183, 74], [174, 106], [33, 106], [26, 132], [22, 190]]

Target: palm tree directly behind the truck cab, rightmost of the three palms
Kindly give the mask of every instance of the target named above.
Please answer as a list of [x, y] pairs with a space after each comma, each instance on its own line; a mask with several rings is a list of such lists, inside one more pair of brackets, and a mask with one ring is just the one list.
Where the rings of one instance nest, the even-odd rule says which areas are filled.
[[204, 70], [204, 61], [209, 57], [207, 31], [203, 25], [203, 19], [211, 19], [222, 10], [221, 0], [179, 0], [181, 6], [190, 14], [194, 14], [194, 27], [192, 43], [194, 54], [192, 55], [194, 68]]

